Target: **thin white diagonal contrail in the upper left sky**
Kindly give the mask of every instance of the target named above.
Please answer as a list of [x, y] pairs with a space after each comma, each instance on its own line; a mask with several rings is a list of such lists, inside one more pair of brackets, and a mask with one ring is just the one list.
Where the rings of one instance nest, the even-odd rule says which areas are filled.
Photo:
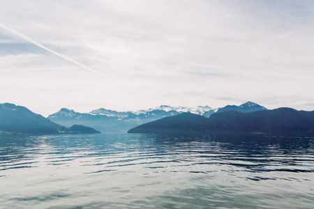
[[[79, 63], [78, 61], [75, 61], [74, 59], [70, 59], [70, 57], [65, 56], [65, 55], [63, 55], [63, 54], [59, 54], [58, 52], [54, 52], [52, 49], [49, 49], [49, 48], [45, 47], [44, 45], [41, 45], [41, 44], [40, 44], [39, 42], [37, 42], [36, 40], [33, 40], [33, 39], [29, 38], [28, 36], [25, 36], [24, 34], [18, 32], [18, 31], [15, 31], [15, 29], [11, 29], [10, 27], [5, 26], [4, 24], [1, 24], [1, 23], [0, 23], [0, 28], [3, 29], [3, 30], [5, 30], [5, 31], [8, 31], [9, 33], [15, 34], [16, 36], [19, 36], [20, 38], [25, 39], [25, 40], [27, 40], [27, 41], [33, 43], [34, 45], [36, 45], [36, 46], [38, 46], [38, 47], [40, 47], [40, 48], [42, 48], [42, 49], [45, 49], [45, 50], [48, 51], [48, 52], [51, 52], [52, 54], [55, 54], [55, 55], [57, 55], [57, 56], [59, 56], [59, 57], [65, 59], [65, 60], [67, 60], [67, 61], [70, 61], [71, 63], [74, 63], [75, 65], [78, 65], [78, 66], [80, 66], [81, 68], [84, 68], [85, 70], [89, 70], [89, 71], [91, 71], [91, 72], [94, 72], [94, 73], [100, 75], [101, 77], [104, 77], [105, 79], [110, 79], [109, 77], [105, 77], [105, 75], [101, 74], [101, 73], [98, 72], [97, 70], [94, 70], [93, 68], [89, 68], [87, 65], [84, 65], [84, 64], [82, 64], [82, 63]], [[111, 80], [111, 79], [110, 79], [110, 80]]]

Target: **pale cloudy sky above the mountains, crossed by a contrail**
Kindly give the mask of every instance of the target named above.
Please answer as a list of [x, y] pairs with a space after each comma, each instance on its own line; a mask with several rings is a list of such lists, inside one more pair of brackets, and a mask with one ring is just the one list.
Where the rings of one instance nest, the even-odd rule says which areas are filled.
[[314, 1], [0, 0], [0, 103], [314, 110]]

